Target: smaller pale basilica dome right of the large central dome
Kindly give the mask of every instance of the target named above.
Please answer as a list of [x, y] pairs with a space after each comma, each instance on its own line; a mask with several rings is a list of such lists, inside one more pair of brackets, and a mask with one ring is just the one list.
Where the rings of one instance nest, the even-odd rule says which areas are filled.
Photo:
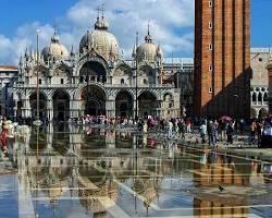
[[145, 37], [145, 43], [139, 45], [136, 49], [139, 61], [148, 61], [150, 63], [156, 62], [159, 58], [163, 58], [163, 52], [160, 46], [152, 41], [152, 36], [148, 34]]

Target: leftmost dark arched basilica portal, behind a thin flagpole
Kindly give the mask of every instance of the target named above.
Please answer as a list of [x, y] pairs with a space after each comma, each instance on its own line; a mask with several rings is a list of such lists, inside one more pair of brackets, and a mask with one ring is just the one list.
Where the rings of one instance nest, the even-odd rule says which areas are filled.
[[[29, 97], [32, 107], [32, 118], [37, 117], [37, 93], [33, 93]], [[47, 98], [42, 93], [39, 93], [39, 118], [47, 117]]]

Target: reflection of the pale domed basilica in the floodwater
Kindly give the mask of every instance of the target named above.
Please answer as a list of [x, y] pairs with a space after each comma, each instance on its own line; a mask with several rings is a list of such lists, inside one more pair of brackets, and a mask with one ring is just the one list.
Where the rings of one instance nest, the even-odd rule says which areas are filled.
[[[148, 208], [159, 196], [161, 162], [147, 161], [146, 158], [154, 158], [149, 157], [150, 153], [131, 149], [145, 138], [115, 130], [55, 128], [52, 124], [40, 129], [36, 137], [34, 129], [29, 138], [18, 138], [14, 145], [14, 149], [24, 150], [18, 153], [20, 180], [25, 187], [34, 190], [32, 194], [36, 198], [48, 197], [54, 210], [67, 195], [78, 197], [82, 207], [91, 216], [108, 217], [107, 210], [114, 207], [125, 192], [121, 189], [122, 183], [145, 197], [141, 207]], [[154, 164], [151, 168], [150, 161]]]

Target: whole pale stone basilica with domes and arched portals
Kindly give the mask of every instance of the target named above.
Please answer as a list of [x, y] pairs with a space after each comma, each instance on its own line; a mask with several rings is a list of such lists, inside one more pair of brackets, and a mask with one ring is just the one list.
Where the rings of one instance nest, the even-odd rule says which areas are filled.
[[14, 116], [28, 119], [39, 113], [48, 120], [86, 114], [180, 117], [181, 90], [163, 84], [162, 48], [149, 31], [145, 43], [132, 46], [131, 60], [119, 53], [118, 39], [103, 16], [83, 36], [78, 50], [67, 51], [54, 33], [41, 52], [26, 50], [20, 59]]

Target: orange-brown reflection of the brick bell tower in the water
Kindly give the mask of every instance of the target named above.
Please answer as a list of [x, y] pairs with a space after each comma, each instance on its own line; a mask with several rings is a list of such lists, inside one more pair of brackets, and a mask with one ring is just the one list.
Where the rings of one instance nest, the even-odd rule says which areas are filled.
[[[207, 194], [213, 196], [213, 198], [208, 197], [208, 195], [194, 197], [194, 216], [207, 217], [225, 215], [232, 217], [240, 215], [242, 217], [247, 217], [249, 209], [243, 207], [247, 205], [247, 197], [234, 198], [233, 194], [227, 197], [226, 193], [220, 195], [218, 186], [222, 185], [228, 192], [232, 192], [233, 186], [239, 186], [239, 189], [246, 187], [249, 184], [250, 174], [245, 175], [238, 173], [238, 167], [234, 167], [236, 159], [232, 156], [222, 156], [215, 152], [209, 153], [207, 149], [201, 155], [201, 159], [202, 158], [206, 159], [205, 162], [200, 164], [199, 159], [197, 159], [198, 162], [194, 164], [194, 169], [197, 169], [193, 174], [194, 183], [198, 187], [209, 189], [210, 193], [207, 191]], [[243, 167], [246, 166], [243, 165]]]

